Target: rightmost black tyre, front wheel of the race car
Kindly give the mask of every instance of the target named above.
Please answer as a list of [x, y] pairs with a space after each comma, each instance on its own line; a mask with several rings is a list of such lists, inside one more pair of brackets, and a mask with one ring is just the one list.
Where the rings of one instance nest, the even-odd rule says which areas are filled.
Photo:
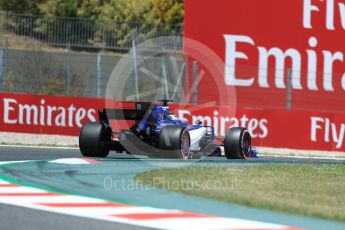
[[225, 136], [224, 151], [228, 159], [248, 159], [252, 150], [251, 136], [245, 128], [230, 128]]

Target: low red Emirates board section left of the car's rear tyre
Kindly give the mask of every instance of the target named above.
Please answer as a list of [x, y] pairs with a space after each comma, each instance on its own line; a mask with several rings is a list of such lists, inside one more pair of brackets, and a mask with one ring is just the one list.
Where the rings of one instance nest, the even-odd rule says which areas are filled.
[[104, 99], [0, 94], [1, 131], [78, 135], [79, 127], [97, 119]]

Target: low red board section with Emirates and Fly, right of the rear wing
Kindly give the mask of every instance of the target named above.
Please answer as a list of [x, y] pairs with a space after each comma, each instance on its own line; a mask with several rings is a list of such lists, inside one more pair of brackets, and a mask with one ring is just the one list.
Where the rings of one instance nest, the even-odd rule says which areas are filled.
[[255, 146], [345, 151], [345, 114], [237, 109], [235, 115], [229, 115], [226, 111], [220, 106], [175, 107], [178, 117], [190, 123], [202, 120], [213, 126], [218, 136], [224, 136], [232, 126], [246, 127]]

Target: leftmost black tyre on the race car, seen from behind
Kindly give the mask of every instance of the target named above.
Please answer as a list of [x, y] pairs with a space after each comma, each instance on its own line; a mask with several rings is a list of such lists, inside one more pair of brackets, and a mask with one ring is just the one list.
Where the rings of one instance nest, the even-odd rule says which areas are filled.
[[99, 122], [87, 122], [79, 136], [79, 149], [85, 157], [106, 157], [110, 151], [111, 134]]

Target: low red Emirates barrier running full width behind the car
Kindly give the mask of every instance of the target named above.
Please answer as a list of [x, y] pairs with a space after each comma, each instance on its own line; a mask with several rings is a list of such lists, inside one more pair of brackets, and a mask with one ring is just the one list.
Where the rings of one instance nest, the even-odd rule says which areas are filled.
[[[105, 105], [123, 108], [123, 103], [104, 99], [0, 94], [0, 132], [78, 136], [81, 125], [97, 119]], [[190, 124], [197, 120], [213, 126], [224, 136], [231, 126], [247, 127], [254, 145], [345, 151], [345, 114], [273, 109], [237, 109], [204, 105], [173, 105], [172, 110]], [[119, 124], [119, 123], [117, 123]], [[125, 127], [120, 123], [120, 129]]]

